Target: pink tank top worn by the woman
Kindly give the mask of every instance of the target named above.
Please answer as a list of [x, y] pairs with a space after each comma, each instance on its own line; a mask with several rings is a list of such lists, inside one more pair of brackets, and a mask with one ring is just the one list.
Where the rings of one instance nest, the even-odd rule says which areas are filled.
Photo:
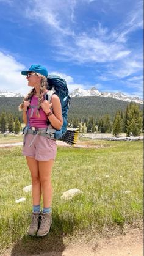
[[31, 108], [28, 110], [29, 114], [29, 126], [30, 127], [36, 127], [36, 128], [47, 128], [47, 117], [45, 112], [43, 111], [42, 108], [40, 108], [39, 113], [40, 117], [37, 117], [36, 112], [37, 112], [37, 106], [38, 106], [38, 97], [35, 95], [32, 96], [31, 98]]

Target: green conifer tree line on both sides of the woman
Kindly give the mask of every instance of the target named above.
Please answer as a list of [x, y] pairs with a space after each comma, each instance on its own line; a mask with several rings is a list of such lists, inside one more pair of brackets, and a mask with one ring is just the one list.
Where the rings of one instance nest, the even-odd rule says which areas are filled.
[[[73, 128], [79, 128], [81, 133], [112, 133], [114, 136], [126, 133], [127, 136], [139, 136], [143, 130], [142, 111], [139, 104], [128, 103], [126, 111], [115, 112], [113, 120], [109, 114], [101, 118], [96, 117], [69, 117], [68, 123]], [[0, 114], [0, 131], [5, 133], [19, 133], [21, 131], [21, 118], [15, 117], [12, 113], [2, 112]]]

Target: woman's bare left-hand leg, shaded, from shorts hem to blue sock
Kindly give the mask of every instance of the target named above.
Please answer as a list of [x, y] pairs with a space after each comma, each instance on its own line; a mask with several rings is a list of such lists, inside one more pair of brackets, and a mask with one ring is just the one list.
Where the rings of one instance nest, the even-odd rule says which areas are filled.
[[26, 159], [27, 159], [27, 165], [29, 166], [29, 170], [31, 172], [31, 178], [32, 178], [32, 204], [40, 205], [41, 185], [40, 185], [40, 176], [38, 171], [38, 161], [29, 156], [26, 156]]

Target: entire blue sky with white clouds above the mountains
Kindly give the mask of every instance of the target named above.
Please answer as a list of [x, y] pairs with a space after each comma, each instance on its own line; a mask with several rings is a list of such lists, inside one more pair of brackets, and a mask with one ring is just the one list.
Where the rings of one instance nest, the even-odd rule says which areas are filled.
[[59, 73], [71, 90], [143, 97], [143, 2], [0, 0], [0, 90], [29, 91], [32, 64]]

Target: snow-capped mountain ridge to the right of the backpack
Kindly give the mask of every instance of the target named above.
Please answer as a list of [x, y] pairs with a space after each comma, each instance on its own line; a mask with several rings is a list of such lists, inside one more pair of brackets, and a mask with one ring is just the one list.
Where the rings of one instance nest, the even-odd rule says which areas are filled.
[[82, 97], [82, 96], [99, 96], [99, 97], [110, 97], [115, 98], [117, 100], [123, 100], [128, 102], [135, 102], [143, 104], [143, 100], [141, 100], [139, 97], [130, 97], [128, 95], [125, 95], [121, 92], [118, 93], [112, 93], [112, 92], [99, 92], [95, 87], [92, 87], [90, 90], [84, 90], [81, 88], [77, 88], [73, 90], [73, 92], [70, 93], [70, 97]]

